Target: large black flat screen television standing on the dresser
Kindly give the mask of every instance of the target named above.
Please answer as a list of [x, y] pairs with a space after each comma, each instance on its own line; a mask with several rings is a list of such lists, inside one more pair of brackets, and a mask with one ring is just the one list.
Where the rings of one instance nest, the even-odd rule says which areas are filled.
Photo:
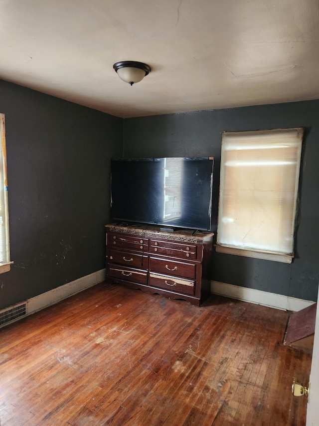
[[213, 158], [111, 160], [114, 221], [210, 230]]

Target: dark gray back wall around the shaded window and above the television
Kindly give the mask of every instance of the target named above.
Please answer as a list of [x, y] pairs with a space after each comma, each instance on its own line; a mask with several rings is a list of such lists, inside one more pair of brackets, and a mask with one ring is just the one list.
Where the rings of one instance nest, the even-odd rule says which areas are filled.
[[216, 230], [221, 132], [305, 127], [295, 259], [291, 265], [214, 251], [211, 279], [317, 300], [319, 283], [319, 101], [168, 114], [124, 120], [124, 157], [214, 156]]

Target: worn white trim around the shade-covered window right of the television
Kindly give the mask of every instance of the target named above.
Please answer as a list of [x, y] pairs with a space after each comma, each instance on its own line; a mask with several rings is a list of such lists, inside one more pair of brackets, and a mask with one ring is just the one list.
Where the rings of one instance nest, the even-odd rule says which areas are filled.
[[[224, 136], [225, 135], [241, 135], [241, 136], [245, 136], [245, 135], [249, 135], [249, 134], [257, 134], [260, 133], [262, 134], [266, 134], [266, 133], [272, 133], [272, 132], [283, 132], [283, 131], [295, 131], [297, 132], [297, 137], [300, 138], [300, 146], [302, 144], [302, 139], [303, 139], [303, 134], [304, 134], [304, 129], [303, 128], [295, 128], [295, 129], [278, 129], [278, 130], [261, 130], [261, 131], [256, 131], [256, 132], [232, 132], [232, 133], [223, 133], [222, 134], [222, 143], [224, 140]], [[220, 176], [221, 179], [223, 179], [223, 173], [224, 173], [224, 163], [223, 163], [223, 153], [221, 156], [221, 167], [220, 167]], [[294, 201], [294, 206], [293, 206], [293, 228], [295, 227], [295, 218], [296, 218], [296, 208], [297, 208], [297, 195], [298, 195], [298, 187], [299, 187], [299, 173], [300, 173], [300, 161], [301, 161], [301, 148], [300, 148], [300, 157], [297, 160], [297, 168], [296, 168], [296, 182], [295, 182], [295, 201]], [[221, 200], [221, 187], [222, 185], [220, 185], [220, 199], [219, 202]], [[218, 222], [221, 220], [221, 214], [220, 212], [223, 211], [223, 207], [219, 205], [218, 207]], [[294, 245], [294, 229], [292, 230], [292, 249], [293, 249], [293, 245]], [[247, 249], [245, 247], [240, 247], [240, 246], [235, 246], [235, 245], [231, 245], [231, 244], [227, 244], [227, 243], [220, 243], [220, 241], [218, 240], [218, 225], [217, 225], [217, 244], [215, 245], [216, 247], [216, 252], [219, 253], [227, 253], [227, 254], [232, 254], [232, 255], [238, 255], [238, 256], [244, 256], [244, 257], [251, 257], [251, 258], [257, 258], [257, 259], [265, 259], [265, 260], [271, 260], [271, 261], [278, 261], [278, 262], [283, 262], [283, 263], [291, 263], [292, 259], [294, 258], [294, 253], [283, 253], [283, 252], [276, 252], [276, 251], [268, 251], [266, 249], [263, 248], [258, 248], [258, 249], [254, 249], [251, 247], [247, 247]]]

